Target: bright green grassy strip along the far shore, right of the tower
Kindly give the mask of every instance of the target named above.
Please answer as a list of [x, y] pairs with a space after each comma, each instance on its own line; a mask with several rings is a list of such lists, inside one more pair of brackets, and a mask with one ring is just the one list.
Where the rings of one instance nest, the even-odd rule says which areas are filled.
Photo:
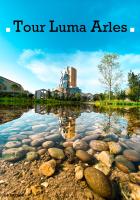
[[97, 107], [140, 107], [140, 102], [134, 101], [123, 101], [123, 100], [105, 100], [105, 101], [93, 101], [93, 102], [86, 102], [88, 104], [95, 105]]

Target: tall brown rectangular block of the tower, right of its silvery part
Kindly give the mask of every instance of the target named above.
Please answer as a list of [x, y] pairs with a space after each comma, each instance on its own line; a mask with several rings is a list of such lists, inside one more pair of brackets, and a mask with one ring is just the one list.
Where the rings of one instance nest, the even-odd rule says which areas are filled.
[[77, 87], [77, 70], [74, 67], [67, 67], [69, 74], [69, 87]]

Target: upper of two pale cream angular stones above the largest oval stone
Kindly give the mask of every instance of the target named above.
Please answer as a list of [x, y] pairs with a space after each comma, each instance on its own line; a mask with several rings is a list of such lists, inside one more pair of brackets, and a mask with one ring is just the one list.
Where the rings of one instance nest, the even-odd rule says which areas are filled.
[[114, 156], [111, 155], [108, 151], [102, 151], [101, 153], [96, 155], [96, 158], [109, 168], [112, 166], [112, 163], [114, 161]]

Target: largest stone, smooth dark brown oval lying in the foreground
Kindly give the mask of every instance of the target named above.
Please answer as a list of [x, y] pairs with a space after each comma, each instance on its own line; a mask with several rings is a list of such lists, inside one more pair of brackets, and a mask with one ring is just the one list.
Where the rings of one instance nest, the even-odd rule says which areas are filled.
[[103, 172], [93, 167], [88, 167], [84, 171], [84, 176], [88, 185], [95, 193], [104, 198], [111, 198], [111, 183]]

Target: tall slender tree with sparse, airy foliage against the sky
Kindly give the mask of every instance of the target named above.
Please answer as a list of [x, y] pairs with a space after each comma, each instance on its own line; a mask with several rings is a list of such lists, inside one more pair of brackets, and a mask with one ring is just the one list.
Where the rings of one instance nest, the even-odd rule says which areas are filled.
[[119, 85], [120, 79], [122, 78], [122, 72], [120, 71], [120, 65], [118, 62], [118, 55], [105, 54], [101, 60], [101, 64], [98, 65], [98, 69], [102, 76], [100, 82], [107, 88], [110, 100], [114, 87]]

